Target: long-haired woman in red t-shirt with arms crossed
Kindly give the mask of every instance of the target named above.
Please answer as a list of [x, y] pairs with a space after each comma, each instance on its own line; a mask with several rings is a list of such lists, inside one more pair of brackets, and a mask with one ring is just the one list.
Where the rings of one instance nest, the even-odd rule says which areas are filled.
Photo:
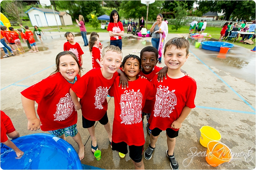
[[123, 24], [119, 21], [120, 17], [116, 10], [110, 14], [107, 31], [110, 36], [110, 45], [118, 46], [122, 50], [122, 37], [124, 36]]

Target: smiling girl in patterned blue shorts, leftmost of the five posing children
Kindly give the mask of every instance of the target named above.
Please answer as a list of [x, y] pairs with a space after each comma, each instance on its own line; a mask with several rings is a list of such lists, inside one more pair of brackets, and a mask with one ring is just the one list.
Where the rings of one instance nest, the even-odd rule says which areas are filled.
[[[60, 52], [56, 56], [56, 70], [46, 79], [21, 92], [21, 101], [28, 118], [28, 130], [48, 131], [53, 136], [66, 140], [71, 136], [79, 147], [78, 156], [84, 158], [84, 145], [77, 131], [77, 112], [69, 89], [80, 79], [82, 67], [74, 53]], [[35, 101], [38, 103], [36, 117]]]

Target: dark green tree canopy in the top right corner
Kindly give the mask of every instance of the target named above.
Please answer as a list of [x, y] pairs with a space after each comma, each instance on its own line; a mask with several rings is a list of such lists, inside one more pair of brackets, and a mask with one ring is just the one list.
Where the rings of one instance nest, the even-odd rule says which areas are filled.
[[[198, 10], [206, 13], [212, 12], [225, 12], [226, 20], [229, 20], [230, 16], [255, 18], [255, 2], [254, 1], [198, 1]], [[240, 18], [239, 18], [240, 19]]]

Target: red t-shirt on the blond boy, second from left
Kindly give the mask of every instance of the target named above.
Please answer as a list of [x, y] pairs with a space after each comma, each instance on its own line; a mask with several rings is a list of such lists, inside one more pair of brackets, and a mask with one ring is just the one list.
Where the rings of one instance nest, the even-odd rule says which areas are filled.
[[113, 84], [118, 73], [114, 73], [111, 79], [103, 77], [101, 69], [95, 68], [81, 77], [71, 89], [80, 98], [82, 115], [91, 121], [100, 120], [108, 110], [108, 90]]

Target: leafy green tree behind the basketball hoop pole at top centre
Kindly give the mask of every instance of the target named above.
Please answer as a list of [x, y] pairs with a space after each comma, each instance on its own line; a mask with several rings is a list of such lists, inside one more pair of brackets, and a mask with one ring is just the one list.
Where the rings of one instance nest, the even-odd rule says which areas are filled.
[[[161, 12], [164, 1], [155, 1], [148, 6], [148, 20], [156, 20], [156, 15]], [[139, 18], [146, 19], [147, 5], [141, 4], [140, 1], [122, 1], [121, 9], [124, 11], [124, 18]], [[121, 17], [121, 16], [120, 16]]]

